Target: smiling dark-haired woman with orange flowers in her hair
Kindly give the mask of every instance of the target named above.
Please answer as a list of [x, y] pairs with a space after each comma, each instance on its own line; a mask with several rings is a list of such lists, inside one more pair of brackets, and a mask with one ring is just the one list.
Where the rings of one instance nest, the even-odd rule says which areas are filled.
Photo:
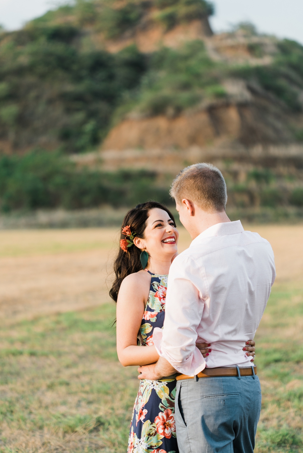
[[[157, 202], [139, 204], [123, 220], [116, 280], [110, 290], [117, 302], [117, 354], [123, 366], [147, 365], [159, 358], [152, 334], [155, 327], [163, 327], [167, 275], [177, 255], [178, 237], [173, 215]], [[196, 345], [203, 357], [211, 353], [210, 344]], [[178, 452], [175, 394], [175, 376], [140, 381], [128, 453]]]

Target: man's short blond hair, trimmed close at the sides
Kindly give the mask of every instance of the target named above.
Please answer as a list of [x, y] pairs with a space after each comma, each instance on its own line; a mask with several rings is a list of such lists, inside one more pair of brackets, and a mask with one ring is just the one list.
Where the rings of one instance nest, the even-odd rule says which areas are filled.
[[212, 164], [194, 164], [181, 170], [171, 184], [170, 194], [178, 203], [185, 198], [204, 211], [225, 211], [225, 179]]

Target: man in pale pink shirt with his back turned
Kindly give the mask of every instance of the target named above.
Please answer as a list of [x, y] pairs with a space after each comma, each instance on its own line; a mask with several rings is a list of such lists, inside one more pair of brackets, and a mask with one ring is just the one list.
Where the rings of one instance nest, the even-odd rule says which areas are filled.
[[[275, 279], [268, 241], [230, 222], [225, 180], [211, 164], [182, 170], [171, 187], [191, 246], [168, 276], [160, 355], [141, 379], [177, 375], [180, 453], [253, 453], [261, 409], [256, 368], [242, 350], [254, 337]], [[203, 358], [195, 342], [211, 343]]]

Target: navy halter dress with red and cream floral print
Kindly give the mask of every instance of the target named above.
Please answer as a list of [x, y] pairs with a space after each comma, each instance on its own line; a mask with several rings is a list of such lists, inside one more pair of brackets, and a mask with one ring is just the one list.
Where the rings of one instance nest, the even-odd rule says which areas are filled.
[[[149, 271], [148, 271], [149, 272]], [[138, 333], [141, 346], [153, 346], [155, 327], [163, 327], [167, 275], [152, 274], [149, 297]], [[178, 453], [175, 428], [176, 380], [140, 381], [132, 412], [127, 453]]]

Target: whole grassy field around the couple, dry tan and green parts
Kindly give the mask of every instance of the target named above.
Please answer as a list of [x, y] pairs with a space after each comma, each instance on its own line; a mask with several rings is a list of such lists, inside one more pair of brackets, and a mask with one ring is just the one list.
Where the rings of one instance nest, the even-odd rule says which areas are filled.
[[[249, 229], [247, 227], [247, 229]], [[303, 226], [254, 226], [277, 281], [256, 334], [256, 452], [303, 451]], [[136, 367], [106, 288], [117, 231], [0, 231], [0, 452], [126, 452]], [[180, 250], [189, 244], [181, 231]]]

